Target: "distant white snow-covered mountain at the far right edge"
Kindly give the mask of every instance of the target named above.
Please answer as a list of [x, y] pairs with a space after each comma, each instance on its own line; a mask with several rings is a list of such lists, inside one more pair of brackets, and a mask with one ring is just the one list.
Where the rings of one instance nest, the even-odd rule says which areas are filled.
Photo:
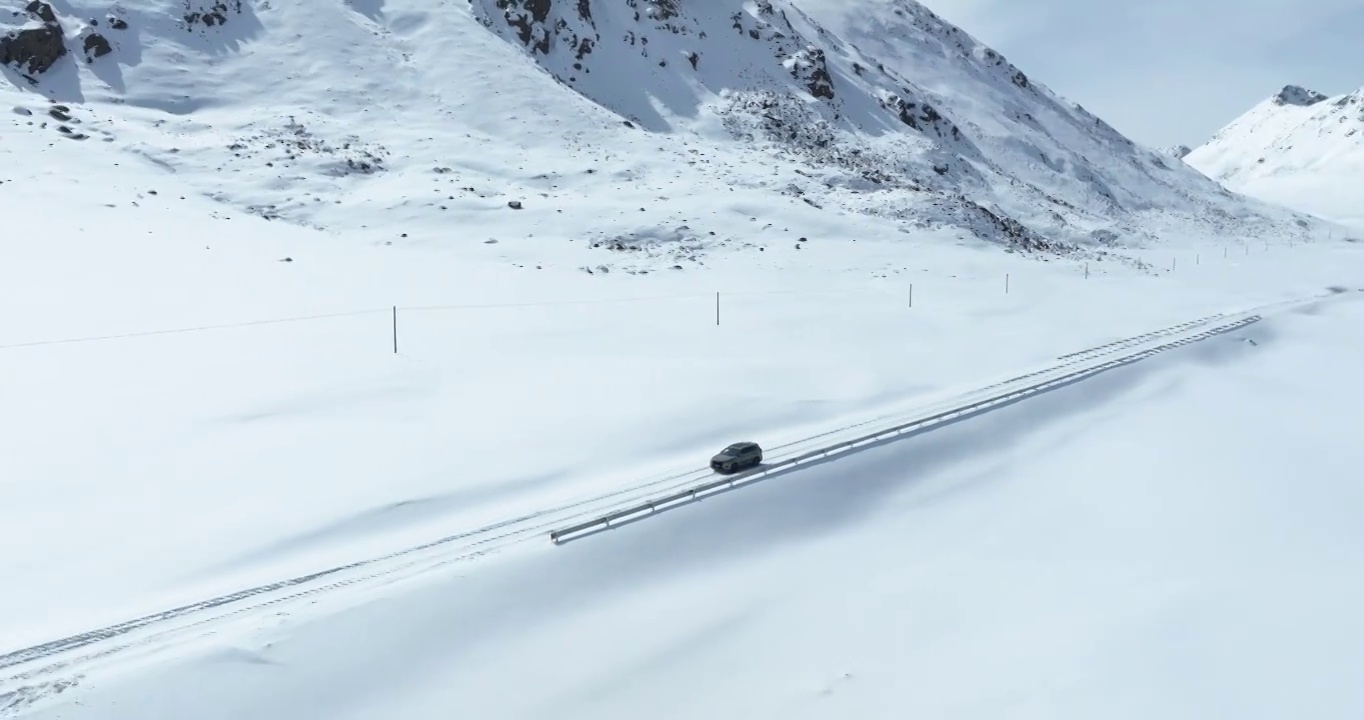
[[1185, 161], [1240, 192], [1364, 226], [1364, 89], [1288, 86]]

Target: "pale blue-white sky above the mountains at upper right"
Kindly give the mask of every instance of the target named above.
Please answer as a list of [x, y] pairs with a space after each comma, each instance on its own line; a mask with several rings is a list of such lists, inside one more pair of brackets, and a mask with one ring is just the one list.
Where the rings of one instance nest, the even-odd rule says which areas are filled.
[[1285, 85], [1364, 86], [1364, 0], [921, 0], [1135, 140], [1202, 145]]

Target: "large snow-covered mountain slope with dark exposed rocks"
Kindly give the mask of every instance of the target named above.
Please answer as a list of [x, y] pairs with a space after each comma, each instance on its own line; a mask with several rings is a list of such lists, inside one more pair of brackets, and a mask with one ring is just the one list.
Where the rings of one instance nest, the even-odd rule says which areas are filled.
[[71, 0], [4, 22], [5, 94], [50, 115], [33, 142], [105, 140], [334, 232], [432, 239], [458, 214], [483, 240], [517, 203], [542, 237], [690, 258], [745, 239], [660, 198], [737, 192], [1027, 248], [1296, 220], [911, 0]]

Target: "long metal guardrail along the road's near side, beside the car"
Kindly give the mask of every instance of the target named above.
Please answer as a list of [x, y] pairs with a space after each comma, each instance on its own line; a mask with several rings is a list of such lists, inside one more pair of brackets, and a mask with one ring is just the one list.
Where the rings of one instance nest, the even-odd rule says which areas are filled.
[[[1076, 383], [1079, 380], [1083, 380], [1086, 378], [1090, 378], [1093, 375], [1098, 375], [1099, 372], [1105, 372], [1105, 371], [1109, 371], [1109, 370], [1113, 370], [1113, 368], [1117, 368], [1117, 367], [1128, 365], [1128, 364], [1144, 360], [1147, 357], [1159, 355], [1162, 352], [1168, 352], [1168, 350], [1172, 350], [1174, 348], [1184, 346], [1184, 345], [1191, 345], [1194, 342], [1199, 342], [1199, 341], [1207, 340], [1207, 338], [1214, 337], [1214, 335], [1221, 335], [1221, 334], [1225, 334], [1225, 333], [1230, 333], [1233, 330], [1239, 330], [1239, 329], [1245, 327], [1248, 325], [1256, 323], [1260, 319], [1262, 319], [1260, 315], [1249, 315], [1249, 316], [1243, 318], [1243, 319], [1236, 320], [1236, 322], [1224, 323], [1224, 325], [1219, 325], [1217, 327], [1211, 327], [1211, 329], [1204, 330], [1203, 333], [1199, 333], [1196, 335], [1189, 335], [1187, 338], [1181, 338], [1181, 340], [1177, 340], [1177, 341], [1166, 342], [1163, 345], [1157, 345], [1154, 348], [1148, 348], [1148, 349], [1138, 352], [1138, 353], [1132, 353], [1132, 355], [1127, 355], [1127, 356], [1123, 356], [1123, 357], [1117, 357], [1117, 359], [1109, 360], [1106, 363], [1101, 363], [1098, 365], [1093, 365], [1093, 367], [1087, 367], [1087, 368], [1078, 370], [1078, 371], [1073, 371], [1073, 372], [1068, 372], [1065, 375], [1061, 375], [1058, 378], [1053, 378], [1050, 380], [1045, 380], [1045, 382], [1041, 382], [1041, 383], [1037, 383], [1037, 385], [1031, 385], [1031, 386], [1027, 386], [1027, 387], [1022, 387], [1022, 389], [1018, 389], [1018, 390], [1001, 393], [998, 395], [994, 395], [994, 397], [990, 397], [990, 398], [986, 398], [986, 400], [981, 400], [981, 401], [977, 401], [977, 402], [962, 405], [962, 406], [953, 408], [951, 410], [945, 410], [945, 412], [940, 412], [940, 413], [936, 413], [936, 415], [930, 415], [928, 417], [921, 417], [921, 419], [917, 419], [917, 420], [913, 420], [913, 421], [908, 421], [908, 423], [903, 423], [900, 425], [895, 425], [895, 427], [891, 427], [891, 428], [880, 430], [877, 432], [872, 432], [872, 434], [863, 435], [861, 438], [854, 438], [851, 440], [844, 440], [844, 442], [840, 442], [840, 443], [835, 443], [835, 445], [831, 445], [828, 447], [821, 447], [821, 449], [817, 449], [817, 450], [812, 450], [809, 453], [803, 453], [803, 454], [799, 454], [799, 455], [783, 460], [780, 462], [775, 462], [772, 465], [762, 465], [762, 466], [754, 468], [754, 469], [752, 469], [749, 472], [745, 472], [745, 473], [738, 473], [738, 475], [732, 475], [732, 476], [728, 476], [728, 477], [722, 477], [722, 479], [717, 479], [717, 480], [711, 480], [708, 483], [702, 483], [702, 484], [698, 484], [698, 485], [682, 490], [682, 491], [677, 491], [677, 492], [672, 492], [670, 495], [664, 495], [662, 498], [656, 498], [656, 499], [652, 499], [652, 500], [636, 503], [636, 505], [633, 505], [630, 507], [625, 507], [622, 510], [615, 510], [612, 513], [607, 513], [607, 514], [599, 515], [599, 517], [588, 520], [585, 522], [578, 522], [578, 524], [574, 524], [574, 525], [569, 525], [566, 528], [559, 528], [557, 530], [552, 530], [550, 533], [550, 540], [554, 541], [554, 544], [563, 544], [563, 543], [572, 541], [572, 540], [578, 539], [578, 537], [585, 537], [585, 536], [589, 536], [589, 535], [596, 535], [597, 532], [603, 532], [603, 530], [611, 529], [611, 528], [618, 526], [618, 525], [634, 522], [637, 520], [642, 520], [645, 517], [662, 513], [664, 510], [671, 510], [671, 509], [675, 509], [675, 507], [682, 506], [682, 505], [693, 503], [693, 502], [700, 500], [700, 499], [707, 498], [707, 496], [717, 495], [720, 492], [727, 492], [727, 491], [735, 490], [738, 487], [753, 484], [753, 483], [756, 483], [756, 481], [758, 481], [758, 480], [761, 480], [761, 479], [764, 479], [767, 476], [771, 476], [771, 475], [773, 475], [773, 473], [776, 473], [779, 470], [787, 470], [787, 469], [795, 468], [795, 466], [802, 465], [802, 464], [813, 462], [816, 460], [828, 458], [829, 455], [835, 455], [835, 454], [840, 454], [840, 453], [847, 453], [847, 451], [850, 451], [853, 449], [857, 449], [858, 446], [863, 446], [863, 445], [870, 445], [870, 443], [887, 440], [887, 439], [891, 439], [891, 438], [895, 438], [895, 436], [899, 436], [899, 435], [904, 435], [906, 432], [922, 431], [922, 430], [928, 430], [932, 425], [945, 424], [945, 423], [948, 423], [951, 420], [958, 420], [958, 419], [962, 419], [962, 417], [966, 417], [966, 416], [971, 416], [971, 415], [979, 415], [982, 412], [986, 412], [986, 410], [989, 410], [992, 408], [997, 408], [997, 406], [1001, 406], [1001, 405], [1011, 405], [1011, 404], [1018, 402], [1018, 401], [1020, 401], [1023, 398], [1027, 398], [1030, 395], [1037, 395], [1039, 393], [1045, 393], [1045, 391], [1053, 390], [1056, 387], [1061, 387], [1061, 386], [1067, 386], [1067, 385], [1073, 385], [1073, 383]], [[1184, 323], [1184, 325], [1192, 326], [1192, 325], [1196, 325], [1198, 322], [1200, 322], [1200, 320], [1195, 320], [1192, 323]], [[1176, 326], [1176, 327], [1181, 327], [1181, 326]], [[1169, 331], [1169, 330], [1172, 330], [1172, 329], [1166, 329], [1165, 331]]]

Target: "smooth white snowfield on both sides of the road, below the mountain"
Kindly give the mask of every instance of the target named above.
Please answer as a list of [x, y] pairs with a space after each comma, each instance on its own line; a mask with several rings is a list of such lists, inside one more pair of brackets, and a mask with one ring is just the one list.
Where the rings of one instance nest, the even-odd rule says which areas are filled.
[[[1131, 251], [1146, 270], [1091, 262], [1088, 277], [1079, 260], [891, 230], [649, 275], [322, 252], [250, 217], [206, 250], [183, 229], [213, 205], [145, 195], [161, 209], [115, 213], [100, 184], [3, 195], [11, 237], [42, 237], [8, 243], [0, 270], [16, 308], [0, 349], [5, 649], [698, 468], [734, 439], [780, 445], [1117, 338], [1364, 286], [1357, 247], [1324, 239], [1181, 239]], [[835, 258], [902, 271], [821, 267]], [[139, 335], [349, 311], [368, 312]], [[1348, 682], [1364, 638], [1344, 614], [1360, 588], [1341, 570], [1359, 562], [1360, 312], [1273, 316], [618, 535], [232, 626], [11, 709], [1269, 717], [1327, 683], [1319, 715], [1345, 717], [1364, 708]], [[105, 335], [134, 337], [48, 344]]]

